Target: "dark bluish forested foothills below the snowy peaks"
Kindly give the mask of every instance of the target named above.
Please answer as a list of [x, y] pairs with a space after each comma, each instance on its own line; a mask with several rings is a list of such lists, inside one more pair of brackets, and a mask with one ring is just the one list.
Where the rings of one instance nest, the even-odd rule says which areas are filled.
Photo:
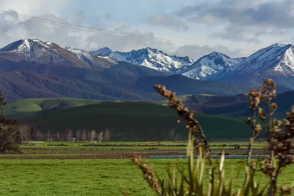
[[167, 85], [178, 95], [245, 93], [245, 87], [197, 81], [183, 75], [157, 72], [144, 66], [119, 62], [105, 69], [45, 65], [0, 59], [0, 88], [7, 100], [19, 98], [161, 99], [153, 85]]

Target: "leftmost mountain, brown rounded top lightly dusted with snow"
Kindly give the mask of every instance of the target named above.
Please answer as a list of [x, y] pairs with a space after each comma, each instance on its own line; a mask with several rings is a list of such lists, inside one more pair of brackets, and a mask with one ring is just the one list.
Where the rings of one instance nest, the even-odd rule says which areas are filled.
[[11, 61], [30, 61], [42, 64], [66, 65], [97, 69], [110, 67], [115, 62], [99, 57], [85, 50], [63, 48], [39, 39], [23, 39], [0, 49], [0, 58]]

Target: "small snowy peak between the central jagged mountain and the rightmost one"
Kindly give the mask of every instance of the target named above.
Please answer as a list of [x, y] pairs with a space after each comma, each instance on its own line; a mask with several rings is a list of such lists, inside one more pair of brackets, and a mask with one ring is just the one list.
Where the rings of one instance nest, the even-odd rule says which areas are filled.
[[193, 79], [201, 79], [218, 73], [225, 68], [234, 66], [244, 59], [245, 57], [230, 58], [220, 52], [212, 52], [208, 55], [202, 56], [188, 69], [180, 73]]

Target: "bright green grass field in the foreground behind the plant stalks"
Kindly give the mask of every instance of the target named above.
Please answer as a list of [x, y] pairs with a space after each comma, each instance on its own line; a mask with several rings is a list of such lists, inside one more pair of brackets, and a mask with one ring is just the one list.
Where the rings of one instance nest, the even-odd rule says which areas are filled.
[[[186, 167], [187, 164], [186, 160], [144, 161], [152, 163], [162, 178], [167, 177], [166, 165], [176, 163]], [[226, 160], [224, 164], [227, 177], [234, 179], [235, 188], [242, 186], [245, 171], [237, 176], [237, 170], [239, 163], [244, 164], [244, 161]], [[260, 172], [256, 180], [263, 185], [266, 183], [266, 178]], [[291, 185], [293, 180], [292, 165], [282, 173], [278, 182]], [[154, 196], [141, 171], [130, 160], [0, 160], [0, 195], [121, 196], [120, 189], [131, 196]]]

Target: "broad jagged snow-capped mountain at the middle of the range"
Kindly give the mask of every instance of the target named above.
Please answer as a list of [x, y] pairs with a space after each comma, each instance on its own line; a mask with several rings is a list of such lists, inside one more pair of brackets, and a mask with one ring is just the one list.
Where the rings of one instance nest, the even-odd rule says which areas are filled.
[[126, 61], [134, 65], [146, 66], [148, 68], [164, 73], [178, 73], [187, 69], [196, 61], [188, 56], [170, 56], [158, 49], [138, 49], [129, 52], [115, 51], [109, 48], [102, 48], [90, 51], [95, 55], [109, 56], [118, 61]]

